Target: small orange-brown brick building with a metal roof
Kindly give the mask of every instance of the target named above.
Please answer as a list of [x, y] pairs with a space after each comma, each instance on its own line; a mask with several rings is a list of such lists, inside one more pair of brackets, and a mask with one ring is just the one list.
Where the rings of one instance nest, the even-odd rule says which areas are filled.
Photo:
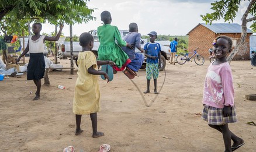
[[[250, 36], [252, 31], [247, 29], [247, 48], [243, 51], [238, 51], [233, 60], [250, 59]], [[209, 57], [209, 48], [213, 48], [213, 40], [220, 35], [228, 36], [233, 40], [233, 48], [241, 37], [241, 26], [236, 23], [199, 23], [188, 34], [188, 50], [192, 51], [198, 48], [198, 53], [205, 58]]]

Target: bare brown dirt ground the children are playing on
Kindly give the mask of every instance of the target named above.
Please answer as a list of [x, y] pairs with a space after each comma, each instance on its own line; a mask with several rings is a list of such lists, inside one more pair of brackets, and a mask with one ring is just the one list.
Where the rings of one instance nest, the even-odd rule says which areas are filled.
[[[26, 57], [26, 62], [29, 58]], [[52, 59], [52, 58], [50, 58]], [[59, 60], [64, 67], [70, 60]], [[202, 121], [203, 81], [210, 62], [198, 66], [167, 64], [160, 72], [158, 91], [143, 94], [122, 72], [106, 83], [99, 77], [101, 112], [98, 113], [98, 131], [105, 136], [92, 138], [89, 115], [82, 116], [84, 132], [75, 136], [75, 115], [72, 113], [74, 75], [70, 69], [50, 72], [51, 86], [41, 87], [41, 98], [32, 101], [36, 87], [26, 80], [9, 77], [0, 82], [0, 150], [2, 151], [63, 151], [74, 146], [75, 151], [98, 151], [103, 143], [110, 151], [224, 151], [222, 134]], [[250, 61], [231, 62], [238, 122], [229, 125], [245, 145], [236, 151], [255, 151], [256, 101], [248, 101], [245, 94], [256, 94], [256, 68]], [[146, 69], [139, 70], [133, 82], [140, 91], [146, 90]], [[165, 81], [164, 81], [165, 80]], [[42, 84], [44, 80], [42, 79]], [[58, 84], [65, 86], [58, 89]], [[163, 86], [162, 86], [163, 85]], [[160, 90], [162, 86], [162, 89]], [[32, 94], [30, 94], [32, 91]], [[155, 98], [155, 100], [154, 100]], [[150, 105], [150, 107], [147, 107]]]

